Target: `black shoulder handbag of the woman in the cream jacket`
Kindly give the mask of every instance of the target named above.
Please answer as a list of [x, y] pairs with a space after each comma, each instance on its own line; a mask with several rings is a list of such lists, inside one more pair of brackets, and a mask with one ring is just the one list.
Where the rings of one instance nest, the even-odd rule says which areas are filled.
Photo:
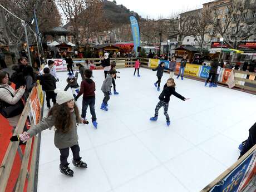
[[[0, 87], [0, 88], [5, 88], [7, 91], [9, 91], [8, 88], [6, 87]], [[14, 97], [11, 91], [9, 91], [9, 93], [11, 93], [11, 96]], [[14, 105], [8, 104], [7, 102], [2, 100], [0, 101], [0, 114], [5, 118], [11, 118], [11, 117], [20, 115], [22, 114], [23, 109], [24, 109], [24, 104], [21, 99]]]

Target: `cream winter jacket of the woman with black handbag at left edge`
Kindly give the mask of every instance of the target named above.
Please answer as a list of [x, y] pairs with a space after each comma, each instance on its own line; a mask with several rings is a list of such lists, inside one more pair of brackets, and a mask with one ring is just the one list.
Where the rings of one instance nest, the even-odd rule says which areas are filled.
[[[14, 97], [12, 97], [12, 95], [9, 93], [9, 91], [7, 91], [5, 88], [0, 88], [0, 100], [7, 102], [7, 104], [11, 104], [11, 105], [15, 105], [17, 104], [17, 102], [19, 100], [21, 100], [25, 90], [24, 88], [18, 90], [17, 92], [9, 85], [0, 85], [0, 87], [6, 87], [9, 91], [11, 91], [12, 95]], [[18, 120], [19, 120], [19, 116], [21, 115], [17, 115], [11, 118], [7, 118], [7, 120], [9, 121], [9, 124], [11, 126], [16, 127], [18, 124]]]

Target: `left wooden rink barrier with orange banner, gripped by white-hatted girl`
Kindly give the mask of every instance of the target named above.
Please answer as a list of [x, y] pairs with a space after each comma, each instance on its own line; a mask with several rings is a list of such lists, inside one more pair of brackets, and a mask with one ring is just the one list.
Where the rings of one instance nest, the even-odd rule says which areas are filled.
[[[22, 111], [21, 117], [18, 120], [16, 129], [13, 135], [22, 134], [23, 127], [26, 124], [27, 118], [31, 122], [31, 126], [37, 124], [42, 118], [43, 99], [42, 87], [37, 85], [33, 87], [26, 105]], [[35, 175], [37, 174], [38, 165], [38, 135], [33, 136], [27, 141], [26, 147], [23, 152], [21, 168], [19, 170], [18, 179], [16, 185], [12, 191], [29, 191], [32, 192], [35, 189]], [[39, 141], [40, 142], [40, 141]], [[6, 191], [8, 180], [11, 179], [12, 166], [15, 163], [14, 159], [18, 151], [19, 142], [9, 142], [8, 148], [4, 155], [3, 161], [0, 166], [0, 192]], [[24, 189], [26, 188], [27, 189]]]

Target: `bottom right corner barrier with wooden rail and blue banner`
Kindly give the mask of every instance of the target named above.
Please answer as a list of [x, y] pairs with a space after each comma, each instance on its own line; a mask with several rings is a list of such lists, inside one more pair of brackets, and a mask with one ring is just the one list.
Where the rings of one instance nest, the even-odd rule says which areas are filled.
[[256, 174], [256, 145], [200, 192], [242, 192]]

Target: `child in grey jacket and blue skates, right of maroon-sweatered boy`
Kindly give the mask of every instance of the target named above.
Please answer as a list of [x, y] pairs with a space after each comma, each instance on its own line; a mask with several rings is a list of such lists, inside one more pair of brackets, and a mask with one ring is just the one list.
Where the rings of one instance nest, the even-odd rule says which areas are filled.
[[104, 93], [104, 99], [102, 101], [101, 107], [100, 109], [107, 111], [107, 101], [110, 100], [110, 87], [111, 87], [111, 83], [112, 83], [112, 78], [114, 78], [116, 75], [116, 71], [115, 70], [110, 70], [109, 71], [109, 75], [107, 75], [107, 77], [105, 78], [105, 80], [103, 81], [103, 84], [101, 86], [101, 91]]

